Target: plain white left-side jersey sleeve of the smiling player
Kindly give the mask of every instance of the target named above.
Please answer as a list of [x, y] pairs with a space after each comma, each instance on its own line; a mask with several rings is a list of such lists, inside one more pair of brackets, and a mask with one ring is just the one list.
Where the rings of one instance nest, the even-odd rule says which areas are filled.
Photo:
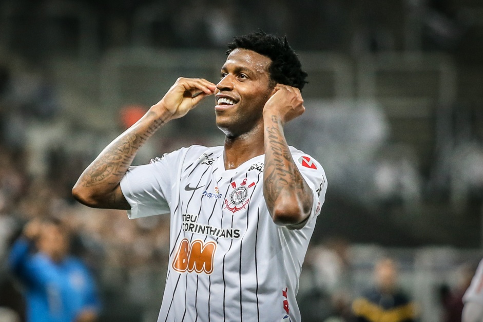
[[152, 159], [149, 164], [131, 166], [121, 180], [124, 198], [131, 206], [129, 219], [169, 213], [171, 187], [176, 181], [180, 150]]

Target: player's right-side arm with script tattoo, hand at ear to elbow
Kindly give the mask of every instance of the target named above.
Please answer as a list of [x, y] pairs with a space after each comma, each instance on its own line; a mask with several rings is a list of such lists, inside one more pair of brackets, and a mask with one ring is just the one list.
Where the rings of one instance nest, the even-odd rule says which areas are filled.
[[263, 108], [265, 169], [263, 197], [276, 224], [300, 228], [310, 215], [313, 196], [283, 134], [283, 125], [302, 115], [298, 88], [277, 84]]

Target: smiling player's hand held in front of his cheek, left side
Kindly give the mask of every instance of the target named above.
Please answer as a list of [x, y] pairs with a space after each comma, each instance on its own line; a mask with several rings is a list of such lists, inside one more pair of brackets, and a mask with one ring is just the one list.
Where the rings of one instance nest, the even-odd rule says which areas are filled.
[[186, 115], [202, 99], [215, 93], [216, 85], [205, 79], [180, 77], [171, 86], [163, 99], [154, 104], [151, 109], [157, 112], [167, 111], [172, 119]]

